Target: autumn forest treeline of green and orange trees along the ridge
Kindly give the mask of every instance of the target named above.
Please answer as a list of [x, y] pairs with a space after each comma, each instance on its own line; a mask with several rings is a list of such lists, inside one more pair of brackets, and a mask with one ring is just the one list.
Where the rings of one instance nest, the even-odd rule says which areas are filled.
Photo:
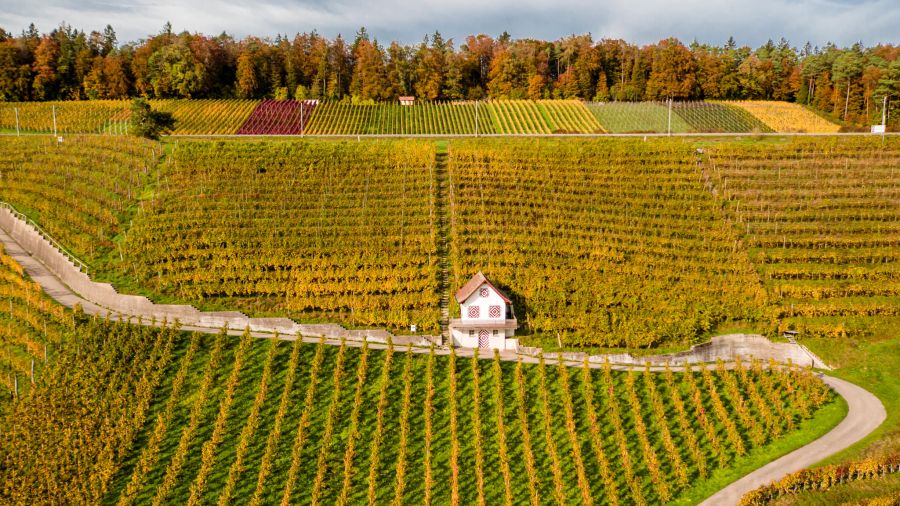
[[352, 41], [315, 31], [236, 40], [173, 33], [169, 24], [119, 44], [108, 25], [87, 33], [62, 24], [41, 34], [32, 24], [18, 36], [0, 29], [0, 100], [768, 99], [863, 124], [880, 120], [883, 97], [893, 102], [889, 112], [900, 109], [898, 55], [900, 46], [891, 44], [797, 49], [782, 39], [754, 49], [733, 39], [719, 47], [668, 38], [639, 46], [591, 35], [549, 42], [507, 33], [456, 44], [435, 32], [419, 44], [384, 45], [364, 28]]

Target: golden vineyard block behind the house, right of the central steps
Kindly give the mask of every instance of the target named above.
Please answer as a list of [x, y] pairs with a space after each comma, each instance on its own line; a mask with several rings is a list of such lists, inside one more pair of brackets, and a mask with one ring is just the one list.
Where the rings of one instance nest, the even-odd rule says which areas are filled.
[[484, 271], [538, 338], [646, 347], [762, 314], [689, 145], [453, 141], [449, 168], [451, 285]]

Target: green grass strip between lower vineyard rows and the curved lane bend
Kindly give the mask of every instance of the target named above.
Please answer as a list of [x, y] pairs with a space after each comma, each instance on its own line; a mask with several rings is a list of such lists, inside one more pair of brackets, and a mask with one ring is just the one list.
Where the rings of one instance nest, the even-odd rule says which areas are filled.
[[794, 432], [766, 446], [753, 448], [743, 457], [734, 457], [730, 461], [730, 467], [714, 470], [707, 480], [679, 494], [671, 504], [701, 502], [752, 471], [822, 437], [846, 416], [847, 402], [838, 397], [834, 402], [822, 407], [813, 418], [800, 422]]

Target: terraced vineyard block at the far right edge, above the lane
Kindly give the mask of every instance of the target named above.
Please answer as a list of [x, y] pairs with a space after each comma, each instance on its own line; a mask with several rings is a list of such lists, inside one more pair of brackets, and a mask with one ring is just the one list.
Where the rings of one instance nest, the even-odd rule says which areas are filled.
[[729, 201], [781, 328], [865, 332], [900, 317], [900, 142], [723, 143], [706, 175]]

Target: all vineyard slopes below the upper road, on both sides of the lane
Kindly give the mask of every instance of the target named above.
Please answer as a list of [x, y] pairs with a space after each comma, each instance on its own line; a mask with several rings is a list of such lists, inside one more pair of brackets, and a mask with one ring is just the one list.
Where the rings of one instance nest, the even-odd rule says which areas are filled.
[[[897, 449], [898, 166], [893, 137], [29, 136], [0, 139], [0, 200], [92, 276], [207, 308], [437, 332], [446, 254], [451, 289], [484, 271], [545, 348], [798, 330], [887, 406], [842, 462]], [[104, 322], [2, 253], [0, 338], [12, 504], [688, 504], [846, 409], [759, 363], [622, 372]]]

